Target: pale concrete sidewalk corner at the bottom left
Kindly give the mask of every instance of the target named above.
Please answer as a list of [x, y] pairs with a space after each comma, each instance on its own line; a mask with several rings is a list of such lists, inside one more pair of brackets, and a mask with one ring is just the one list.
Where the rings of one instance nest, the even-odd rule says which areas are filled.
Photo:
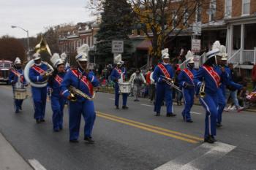
[[0, 169], [33, 170], [0, 133]]

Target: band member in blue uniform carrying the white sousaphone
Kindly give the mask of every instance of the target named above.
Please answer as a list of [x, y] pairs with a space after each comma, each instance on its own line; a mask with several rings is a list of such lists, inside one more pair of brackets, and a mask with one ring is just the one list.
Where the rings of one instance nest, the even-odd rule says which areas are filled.
[[[34, 65], [29, 69], [29, 79], [37, 84], [44, 83], [48, 80], [48, 76], [45, 74], [48, 66], [41, 61], [39, 53], [34, 53], [33, 58]], [[37, 88], [32, 86], [31, 91], [34, 101], [34, 119], [37, 123], [45, 122], [47, 87]]]

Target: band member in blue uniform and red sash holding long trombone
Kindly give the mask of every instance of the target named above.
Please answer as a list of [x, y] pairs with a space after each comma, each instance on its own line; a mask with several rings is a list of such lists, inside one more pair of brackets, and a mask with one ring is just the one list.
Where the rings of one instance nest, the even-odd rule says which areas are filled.
[[170, 85], [167, 85], [163, 80], [169, 81], [173, 79], [174, 73], [173, 68], [170, 66], [170, 58], [168, 54], [168, 49], [162, 50], [162, 63], [159, 63], [154, 69], [153, 78], [157, 83], [156, 92], [156, 104], [154, 105], [154, 112], [156, 116], [160, 115], [160, 109], [162, 106], [162, 101], [165, 98], [167, 117], [175, 117], [173, 113], [173, 90]]

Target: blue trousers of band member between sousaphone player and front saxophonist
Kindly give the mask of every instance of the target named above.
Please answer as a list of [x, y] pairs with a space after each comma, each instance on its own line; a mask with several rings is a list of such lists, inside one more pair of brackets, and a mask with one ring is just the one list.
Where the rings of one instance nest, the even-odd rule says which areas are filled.
[[63, 109], [66, 99], [60, 96], [51, 96], [50, 101], [53, 110], [53, 130], [60, 130], [63, 127]]

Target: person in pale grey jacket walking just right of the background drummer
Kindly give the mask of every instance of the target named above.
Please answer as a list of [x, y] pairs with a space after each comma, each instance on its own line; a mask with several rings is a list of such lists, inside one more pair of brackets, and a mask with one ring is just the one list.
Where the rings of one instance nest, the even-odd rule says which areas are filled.
[[129, 83], [132, 84], [132, 87], [134, 89], [134, 95], [135, 95], [134, 101], [139, 101], [138, 97], [140, 96], [140, 89], [143, 84], [146, 84], [146, 80], [143, 74], [140, 72], [140, 69], [136, 69], [136, 71], [131, 75], [129, 79]]

